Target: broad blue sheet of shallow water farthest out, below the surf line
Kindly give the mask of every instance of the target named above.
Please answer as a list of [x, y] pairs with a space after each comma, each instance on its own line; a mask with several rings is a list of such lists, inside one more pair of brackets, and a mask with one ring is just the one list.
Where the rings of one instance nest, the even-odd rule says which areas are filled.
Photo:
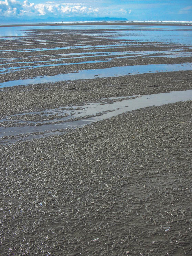
[[[110, 30], [119, 34], [116, 39], [139, 42], [163, 42], [172, 44], [191, 45], [191, 26], [134, 26], [134, 25], [67, 25], [67, 26], [18, 26], [0, 28], [0, 39], [29, 35], [26, 30]], [[116, 30], [119, 31], [116, 31]], [[114, 31], [115, 30], [115, 31]], [[31, 32], [30, 32], [31, 33]], [[33, 33], [31, 33], [32, 35]], [[10, 38], [7, 38], [10, 39]], [[15, 38], [13, 38], [15, 39]]]

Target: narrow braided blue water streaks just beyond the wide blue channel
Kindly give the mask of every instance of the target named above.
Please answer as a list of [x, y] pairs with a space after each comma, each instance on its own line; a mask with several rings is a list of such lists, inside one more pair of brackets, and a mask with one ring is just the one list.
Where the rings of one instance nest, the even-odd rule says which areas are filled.
[[[63, 56], [60, 58], [54, 58], [55, 56]], [[78, 55], [78, 56], [73, 56], [73, 55]], [[79, 56], [80, 55], [80, 56]], [[124, 55], [124, 56], [121, 56]], [[47, 56], [47, 55], [46, 55]], [[70, 57], [68, 57], [70, 56]], [[91, 57], [100, 57], [102, 56], [101, 60], [90, 60]], [[15, 66], [9, 67], [9, 63], [5, 63], [5, 59], [0, 60], [0, 73], [1, 74], [6, 74], [9, 72], [17, 72], [18, 70], [24, 70], [24, 69], [32, 69], [32, 68], [37, 68], [37, 67], [52, 67], [52, 66], [66, 66], [66, 65], [77, 65], [77, 64], [88, 64], [88, 63], [98, 63], [98, 62], [109, 62], [112, 60], [115, 60], [117, 58], [136, 58], [136, 57], [143, 57], [143, 58], [151, 58], [151, 57], [166, 57], [166, 58], [177, 58], [177, 57], [191, 57], [192, 52], [183, 52], [182, 49], [179, 50], [170, 50], [170, 51], [125, 51], [125, 52], [91, 52], [89, 53], [68, 53], [68, 54], [58, 54], [58, 55], [52, 55], [52, 58], [50, 60], [41, 60], [41, 61], [20, 61], [20, 62], [12, 62], [14, 60], [10, 59], [10, 64]], [[37, 56], [36, 56], [37, 57]], [[45, 57], [45, 56], [41, 56]], [[105, 57], [105, 59], [103, 59]], [[87, 61], [81, 61], [78, 62], [78, 59], [81, 58], [87, 58]], [[15, 58], [17, 59], [17, 58]], [[71, 60], [77, 60], [75, 63], [57, 63], [59, 61], [71, 61]], [[49, 64], [49, 62], [51, 64]], [[46, 64], [48, 63], [48, 64]], [[28, 65], [21, 65], [21, 64], [28, 64]], [[6, 67], [4, 67], [6, 65]], [[1, 68], [3, 66], [3, 68]]]

